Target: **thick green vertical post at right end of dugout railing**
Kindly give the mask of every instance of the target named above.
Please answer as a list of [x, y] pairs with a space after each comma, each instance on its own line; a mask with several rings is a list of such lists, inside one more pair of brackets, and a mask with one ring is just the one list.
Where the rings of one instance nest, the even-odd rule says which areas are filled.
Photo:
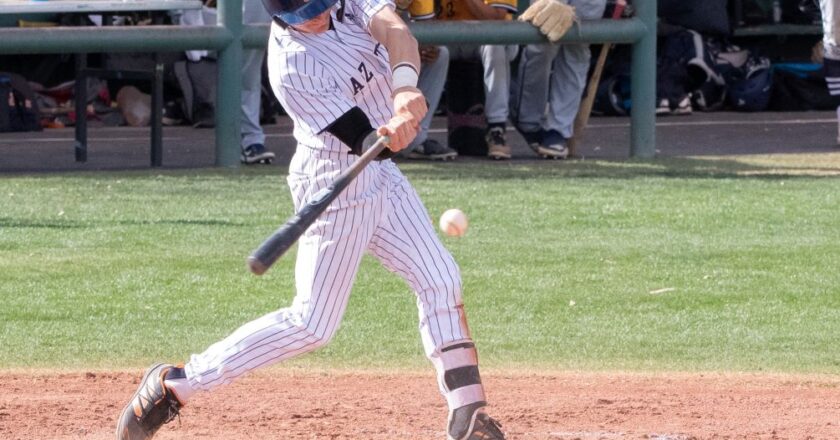
[[656, 0], [637, 0], [635, 5], [647, 32], [633, 45], [630, 156], [651, 158], [656, 154]]

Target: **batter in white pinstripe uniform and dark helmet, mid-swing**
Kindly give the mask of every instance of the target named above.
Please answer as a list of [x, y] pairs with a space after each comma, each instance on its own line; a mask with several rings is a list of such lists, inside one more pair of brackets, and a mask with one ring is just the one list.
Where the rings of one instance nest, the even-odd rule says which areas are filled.
[[[337, 1], [265, 0], [274, 20], [269, 76], [298, 142], [288, 176], [296, 210], [378, 136], [390, 137], [390, 153], [405, 148], [427, 111], [417, 89], [417, 41], [391, 0]], [[183, 366], [149, 368], [119, 417], [117, 439], [149, 439], [196, 392], [328, 343], [365, 252], [416, 294], [423, 347], [449, 406], [447, 438], [504, 439], [484, 411], [458, 265], [417, 193], [384, 157], [301, 237], [291, 306], [243, 325]]]

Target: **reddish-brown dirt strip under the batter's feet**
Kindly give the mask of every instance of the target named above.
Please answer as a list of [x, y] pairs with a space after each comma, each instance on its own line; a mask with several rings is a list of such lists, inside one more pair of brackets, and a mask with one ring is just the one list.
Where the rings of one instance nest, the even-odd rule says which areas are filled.
[[[141, 371], [0, 372], [0, 438], [111, 439]], [[510, 439], [838, 439], [840, 377], [485, 374]], [[430, 374], [271, 370], [197, 395], [156, 439], [443, 439]]]

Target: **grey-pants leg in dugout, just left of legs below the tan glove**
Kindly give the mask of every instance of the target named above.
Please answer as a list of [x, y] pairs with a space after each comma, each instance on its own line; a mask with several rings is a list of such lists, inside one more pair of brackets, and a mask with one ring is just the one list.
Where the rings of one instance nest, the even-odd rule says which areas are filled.
[[484, 114], [487, 117], [487, 155], [491, 159], [510, 159], [505, 126], [510, 112], [510, 62], [518, 46], [479, 47], [484, 66]]

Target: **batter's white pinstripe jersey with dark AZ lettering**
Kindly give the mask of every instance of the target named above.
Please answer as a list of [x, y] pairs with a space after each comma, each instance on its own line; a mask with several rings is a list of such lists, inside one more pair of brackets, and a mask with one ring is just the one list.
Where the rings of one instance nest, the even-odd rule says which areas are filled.
[[368, 31], [371, 18], [387, 0], [346, 0], [344, 20], [319, 34], [272, 25], [268, 47], [269, 79], [274, 94], [294, 122], [300, 145], [347, 151], [324, 130], [358, 106], [374, 128], [393, 115], [388, 52]]

